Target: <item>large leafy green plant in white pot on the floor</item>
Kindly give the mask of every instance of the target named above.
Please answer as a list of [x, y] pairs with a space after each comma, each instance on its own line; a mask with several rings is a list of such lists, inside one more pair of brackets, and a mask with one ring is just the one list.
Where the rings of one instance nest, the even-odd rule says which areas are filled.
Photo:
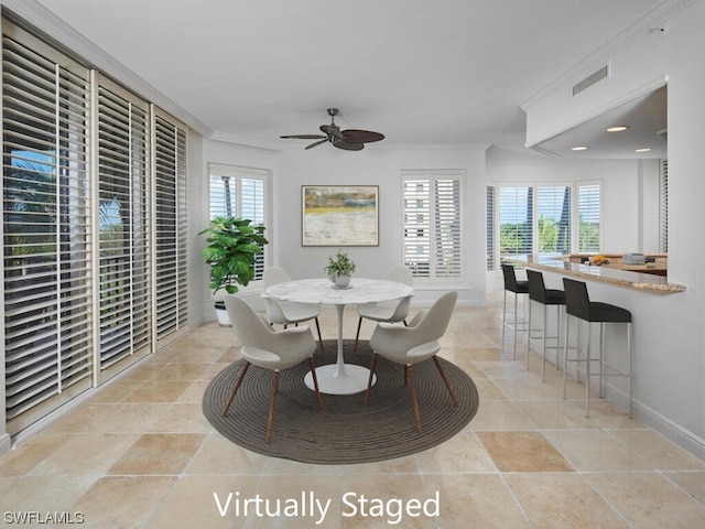
[[[208, 235], [208, 246], [203, 257], [210, 267], [208, 287], [213, 293], [225, 290], [234, 294], [240, 287], [247, 287], [254, 279], [257, 256], [269, 242], [263, 235], [264, 226], [252, 225], [248, 218], [216, 217], [208, 228], [198, 233], [204, 234]], [[229, 324], [224, 301], [216, 301], [216, 315], [221, 324]]]

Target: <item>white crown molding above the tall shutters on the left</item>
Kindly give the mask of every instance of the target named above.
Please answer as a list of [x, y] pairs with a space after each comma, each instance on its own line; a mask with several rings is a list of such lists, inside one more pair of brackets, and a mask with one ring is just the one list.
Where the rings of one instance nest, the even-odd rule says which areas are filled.
[[72, 58], [108, 75], [124, 85], [126, 88], [180, 119], [202, 136], [208, 137], [213, 133], [207, 125], [184, 110], [162, 91], [151, 86], [142, 77], [90, 42], [36, 0], [0, 0], [0, 6], [3, 12], [9, 13], [11, 18], [18, 18], [42, 32], [72, 55]]

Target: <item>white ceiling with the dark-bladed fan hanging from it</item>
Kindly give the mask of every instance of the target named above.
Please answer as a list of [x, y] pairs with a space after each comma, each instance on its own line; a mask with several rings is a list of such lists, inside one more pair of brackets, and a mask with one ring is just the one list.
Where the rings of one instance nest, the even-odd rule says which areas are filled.
[[660, 1], [39, 0], [217, 138], [303, 149], [279, 137], [337, 107], [369, 148], [513, 150], [520, 105]]

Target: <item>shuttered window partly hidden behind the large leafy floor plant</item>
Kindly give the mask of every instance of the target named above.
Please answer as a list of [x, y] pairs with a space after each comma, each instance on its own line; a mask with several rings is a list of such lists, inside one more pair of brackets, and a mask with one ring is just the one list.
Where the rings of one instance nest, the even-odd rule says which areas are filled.
[[[210, 218], [234, 216], [264, 225], [269, 180], [270, 172], [265, 170], [209, 164]], [[265, 252], [256, 256], [254, 280], [262, 279], [265, 260]]]

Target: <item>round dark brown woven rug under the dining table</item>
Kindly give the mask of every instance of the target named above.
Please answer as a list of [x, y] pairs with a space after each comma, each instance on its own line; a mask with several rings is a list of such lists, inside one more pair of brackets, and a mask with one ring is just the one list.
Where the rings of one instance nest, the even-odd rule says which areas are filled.
[[[352, 356], [352, 341], [345, 341], [347, 364], [369, 367], [371, 349], [360, 341]], [[315, 355], [317, 366], [335, 363], [337, 342], [324, 341], [326, 354]], [[391, 460], [414, 454], [451, 439], [477, 412], [479, 397], [473, 379], [459, 367], [438, 358], [459, 406], [455, 407], [433, 360], [414, 365], [423, 432], [416, 422], [403, 367], [379, 357], [377, 384], [369, 406], [365, 392], [324, 395], [323, 411], [315, 393], [304, 385], [308, 363], [281, 373], [272, 440], [264, 442], [272, 388], [272, 371], [251, 366], [226, 417], [221, 410], [235, 387], [243, 361], [220, 371], [206, 388], [203, 412], [225, 438], [260, 454], [304, 463], [351, 464]]]

